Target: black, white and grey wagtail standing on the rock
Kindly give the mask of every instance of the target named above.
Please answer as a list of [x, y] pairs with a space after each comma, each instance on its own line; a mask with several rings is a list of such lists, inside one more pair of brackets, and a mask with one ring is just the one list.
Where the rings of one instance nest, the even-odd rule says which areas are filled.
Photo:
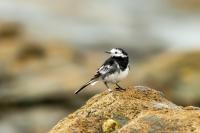
[[125, 90], [118, 85], [118, 82], [124, 79], [129, 72], [129, 57], [128, 54], [121, 48], [113, 48], [106, 53], [110, 54], [111, 57], [108, 58], [104, 64], [97, 70], [96, 74], [84, 84], [80, 89], [78, 89], [75, 94], [78, 94], [82, 89], [88, 85], [94, 85], [97, 81], [103, 81], [108, 91], [112, 91], [109, 88], [108, 83], [116, 84], [117, 89]]

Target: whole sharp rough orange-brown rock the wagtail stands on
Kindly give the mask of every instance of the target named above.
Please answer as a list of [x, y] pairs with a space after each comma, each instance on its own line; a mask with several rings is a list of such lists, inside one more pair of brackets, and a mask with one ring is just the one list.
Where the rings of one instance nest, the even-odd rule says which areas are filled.
[[107, 91], [58, 122], [50, 133], [200, 132], [200, 109], [181, 107], [143, 86]]

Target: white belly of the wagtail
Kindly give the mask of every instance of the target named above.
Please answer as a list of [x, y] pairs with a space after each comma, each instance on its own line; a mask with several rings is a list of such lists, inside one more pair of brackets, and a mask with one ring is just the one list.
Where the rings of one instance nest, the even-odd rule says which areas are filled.
[[111, 83], [117, 83], [121, 81], [122, 79], [126, 78], [129, 72], [129, 68], [126, 68], [124, 71], [115, 72], [108, 77], [106, 77], [104, 80], [106, 82], [111, 82]]

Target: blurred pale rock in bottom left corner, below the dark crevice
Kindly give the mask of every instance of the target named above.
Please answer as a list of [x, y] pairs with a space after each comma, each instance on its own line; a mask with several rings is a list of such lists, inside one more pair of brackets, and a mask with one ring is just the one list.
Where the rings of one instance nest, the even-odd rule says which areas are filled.
[[[3, 110], [3, 111], [2, 111]], [[45, 133], [68, 112], [58, 106], [1, 109], [1, 133]]]

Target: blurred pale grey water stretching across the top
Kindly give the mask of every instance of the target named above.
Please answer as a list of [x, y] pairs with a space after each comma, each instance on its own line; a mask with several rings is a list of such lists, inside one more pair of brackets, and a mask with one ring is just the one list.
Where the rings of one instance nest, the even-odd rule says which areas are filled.
[[40, 39], [85, 45], [200, 48], [200, 14], [168, 0], [0, 0], [0, 19], [18, 21]]

